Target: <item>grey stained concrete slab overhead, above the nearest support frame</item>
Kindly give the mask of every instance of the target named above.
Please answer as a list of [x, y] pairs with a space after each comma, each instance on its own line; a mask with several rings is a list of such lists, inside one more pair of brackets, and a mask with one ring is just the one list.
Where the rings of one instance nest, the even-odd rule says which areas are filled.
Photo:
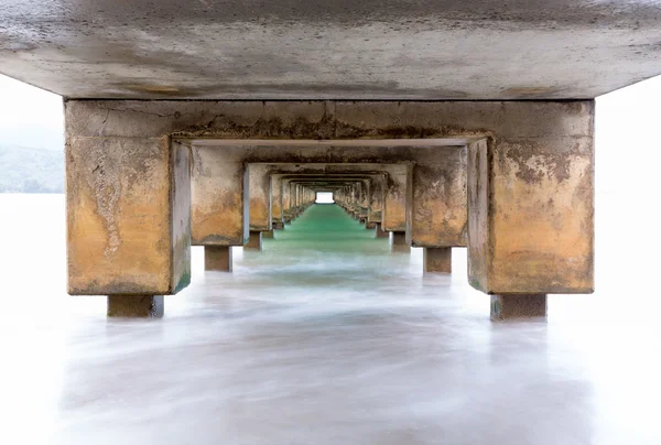
[[593, 98], [661, 73], [660, 22], [659, 0], [3, 0], [0, 73], [76, 98]]

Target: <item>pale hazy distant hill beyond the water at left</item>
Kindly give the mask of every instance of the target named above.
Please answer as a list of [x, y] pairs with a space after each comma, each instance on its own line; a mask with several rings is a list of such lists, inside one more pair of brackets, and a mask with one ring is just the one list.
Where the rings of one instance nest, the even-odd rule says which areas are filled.
[[64, 152], [0, 145], [0, 193], [64, 193]]

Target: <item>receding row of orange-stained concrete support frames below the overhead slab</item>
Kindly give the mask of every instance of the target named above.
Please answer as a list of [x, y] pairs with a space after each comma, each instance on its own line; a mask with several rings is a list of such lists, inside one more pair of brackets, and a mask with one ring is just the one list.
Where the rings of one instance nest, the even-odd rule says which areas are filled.
[[593, 291], [593, 101], [65, 105], [68, 292], [109, 315], [162, 312], [192, 245], [229, 270], [318, 187], [426, 271], [467, 247], [492, 318]]

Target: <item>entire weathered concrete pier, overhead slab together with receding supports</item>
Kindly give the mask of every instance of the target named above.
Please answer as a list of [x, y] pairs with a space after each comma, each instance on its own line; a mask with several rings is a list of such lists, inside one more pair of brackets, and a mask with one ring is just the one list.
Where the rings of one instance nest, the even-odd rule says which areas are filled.
[[72, 294], [176, 293], [329, 191], [500, 319], [592, 292], [593, 99], [661, 73], [660, 6], [10, 0], [0, 73], [65, 98]]

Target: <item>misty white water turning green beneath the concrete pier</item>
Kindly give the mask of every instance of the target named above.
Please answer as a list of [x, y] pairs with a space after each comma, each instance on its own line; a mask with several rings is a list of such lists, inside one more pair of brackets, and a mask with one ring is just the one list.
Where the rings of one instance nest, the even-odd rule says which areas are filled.
[[[335, 206], [109, 321], [65, 294], [64, 199], [0, 195], [0, 443], [659, 444], [655, 290], [609, 269], [548, 324], [489, 322]], [[619, 284], [618, 284], [619, 283]]]

